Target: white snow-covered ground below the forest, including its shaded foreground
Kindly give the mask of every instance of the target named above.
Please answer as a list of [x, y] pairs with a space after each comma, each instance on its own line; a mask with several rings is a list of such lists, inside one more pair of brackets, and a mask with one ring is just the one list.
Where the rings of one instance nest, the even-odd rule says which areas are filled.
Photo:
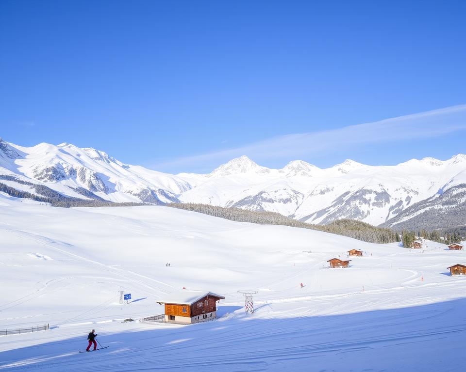
[[[406, 249], [164, 206], [64, 209], [0, 194], [0, 242], [0, 330], [50, 324], [0, 336], [0, 370], [457, 371], [465, 346], [466, 277], [447, 267], [466, 254], [428, 240]], [[328, 268], [351, 248], [364, 256]], [[225, 296], [218, 319], [137, 321], [183, 287]], [[245, 289], [258, 292], [254, 314]], [[79, 354], [91, 329], [109, 347]]]

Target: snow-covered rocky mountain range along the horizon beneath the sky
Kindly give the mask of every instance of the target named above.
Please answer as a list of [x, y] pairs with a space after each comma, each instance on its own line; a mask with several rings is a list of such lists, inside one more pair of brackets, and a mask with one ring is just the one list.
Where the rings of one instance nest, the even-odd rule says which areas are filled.
[[[298, 160], [278, 170], [241, 156], [209, 174], [171, 175], [126, 165], [102, 151], [68, 143], [26, 148], [0, 140], [0, 178], [15, 175], [64, 195], [111, 202], [207, 203], [278, 212], [323, 224], [352, 218], [395, 225], [402, 211], [407, 211], [403, 220], [410, 218], [409, 211], [418, 209], [410, 207], [417, 202], [429, 200], [435, 206], [436, 195], [464, 183], [465, 171], [466, 155], [377, 167], [346, 160], [328, 169]], [[459, 203], [452, 199], [449, 205], [454, 208]]]

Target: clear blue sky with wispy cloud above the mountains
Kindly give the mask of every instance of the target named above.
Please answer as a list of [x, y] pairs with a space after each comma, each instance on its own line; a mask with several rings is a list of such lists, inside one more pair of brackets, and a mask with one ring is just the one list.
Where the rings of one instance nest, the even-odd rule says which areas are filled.
[[0, 136], [174, 173], [449, 158], [465, 18], [465, 1], [3, 0]]

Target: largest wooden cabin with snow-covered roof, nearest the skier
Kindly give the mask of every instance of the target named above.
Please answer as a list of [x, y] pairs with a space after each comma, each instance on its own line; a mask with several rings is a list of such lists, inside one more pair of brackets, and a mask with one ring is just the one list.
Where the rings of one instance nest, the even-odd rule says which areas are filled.
[[164, 300], [165, 321], [197, 323], [216, 318], [216, 303], [225, 297], [212, 292], [181, 290]]

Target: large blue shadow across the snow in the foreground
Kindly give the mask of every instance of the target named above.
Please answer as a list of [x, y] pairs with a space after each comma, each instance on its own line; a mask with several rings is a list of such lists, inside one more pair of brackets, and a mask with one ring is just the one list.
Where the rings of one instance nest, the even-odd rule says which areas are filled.
[[[413, 298], [415, 300], [416, 298]], [[342, 299], [345, 301], [345, 299]], [[296, 302], [296, 308], [301, 307]], [[335, 311], [338, 311], [336, 305]], [[222, 309], [224, 308], [224, 309]], [[238, 311], [194, 325], [83, 335], [0, 353], [8, 371], [447, 371], [466, 346], [466, 299], [326, 316], [259, 318]], [[219, 314], [239, 307], [220, 307]], [[278, 312], [280, 314], [280, 312]], [[286, 314], [286, 312], [284, 312]], [[264, 313], [267, 316], [268, 313]], [[272, 314], [273, 315], [273, 314]], [[133, 326], [133, 325], [132, 325]], [[47, 331], [52, 336], [55, 330]], [[17, 337], [17, 336], [12, 336]], [[2, 340], [4, 341], [4, 340]]]

